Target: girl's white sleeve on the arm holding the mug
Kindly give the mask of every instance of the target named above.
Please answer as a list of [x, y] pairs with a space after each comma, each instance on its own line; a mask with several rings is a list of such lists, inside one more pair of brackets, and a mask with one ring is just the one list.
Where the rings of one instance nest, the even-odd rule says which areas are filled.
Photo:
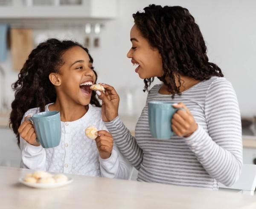
[[[25, 116], [33, 115], [33, 113], [25, 113]], [[21, 123], [24, 121], [24, 117]], [[33, 170], [46, 170], [46, 152], [40, 146], [34, 146], [27, 143], [20, 137], [20, 151], [21, 151], [21, 168], [29, 168]]]

